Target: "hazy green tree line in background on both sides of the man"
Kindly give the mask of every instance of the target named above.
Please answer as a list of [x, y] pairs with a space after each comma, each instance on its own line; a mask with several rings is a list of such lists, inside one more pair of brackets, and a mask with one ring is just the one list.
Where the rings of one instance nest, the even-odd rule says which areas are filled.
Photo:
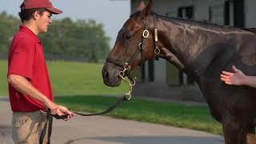
[[[14, 34], [21, 25], [19, 18], [0, 13], [0, 52], [7, 53]], [[40, 34], [46, 57], [49, 59], [98, 62], [110, 52], [110, 38], [102, 23], [93, 19], [73, 21], [70, 18], [54, 20], [45, 34]]]

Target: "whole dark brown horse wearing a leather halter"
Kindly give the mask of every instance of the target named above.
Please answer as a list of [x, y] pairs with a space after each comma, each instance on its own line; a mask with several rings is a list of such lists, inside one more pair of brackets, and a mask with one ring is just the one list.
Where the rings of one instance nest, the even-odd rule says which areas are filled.
[[[222, 124], [226, 144], [256, 143], [256, 89], [230, 86], [220, 80], [233, 65], [256, 75], [256, 34], [233, 26], [220, 26], [152, 11], [152, 1], [122, 26], [114, 48], [102, 68], [106, 86], [119, 86], [120, 74], [152, 58], [164, 58], [197, 82], [210, 114]], [[124, 73], [124, 74], [123, 74]]]

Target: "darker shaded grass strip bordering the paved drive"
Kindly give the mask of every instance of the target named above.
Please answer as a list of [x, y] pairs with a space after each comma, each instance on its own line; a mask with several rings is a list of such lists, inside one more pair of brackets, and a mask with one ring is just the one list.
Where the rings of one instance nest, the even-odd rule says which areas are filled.
[[[57, 97], [56, 101], [70, 110], [99, 112], [112, 106], [117, 98], [101, 96]], [[142, 122], [161, 123], [169, 126], [203, 130], [213, 134], [222, 134], [221, 125], [214, 121], [206, 106], [186, 106], [170, 102], [150, 102], [132, 98], [122, 103], [109, 115], [115, 118], [133, 119]], [[86, 118], [85, 118], [86, 119]]]

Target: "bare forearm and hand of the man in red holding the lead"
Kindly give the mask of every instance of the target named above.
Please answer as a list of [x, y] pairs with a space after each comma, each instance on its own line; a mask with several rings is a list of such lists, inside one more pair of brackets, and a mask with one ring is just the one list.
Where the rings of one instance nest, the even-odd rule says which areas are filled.
[[70, 112], [66, 107], [58, 106], [54, 102], [51, 102], [49, 98], [47, 98], [44, 94], [34, 88], [34, 86], [32, 86], [26, 78], [16, 74], [9, 74], [8, 82], [11, 86], [14, 87], [15, 90], [18, 90], [22, 94], [27, 94], [30, 97], [43, 102], [44, 105], [51, 110], [51, 114], [69, 114], [73, 117], [74, 114]]

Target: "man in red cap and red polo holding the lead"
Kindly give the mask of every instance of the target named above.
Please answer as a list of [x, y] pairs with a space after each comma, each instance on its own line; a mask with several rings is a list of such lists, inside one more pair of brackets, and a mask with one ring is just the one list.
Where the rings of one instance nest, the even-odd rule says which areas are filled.
[[[22, 26], [10, 45], [7, 74], [15, 143], [39, 143], [46, 109], [53, 115], [68, 115], [65, 120], [74, 116], [65, 106], [54, 103], [44, 49], [38, 38], [38, 34], [47, 32], [51, 15], [61, 13], [50, 0], [22, 2], [19, 13]], [[44, 138], [44, 143], [47, 139]]]

